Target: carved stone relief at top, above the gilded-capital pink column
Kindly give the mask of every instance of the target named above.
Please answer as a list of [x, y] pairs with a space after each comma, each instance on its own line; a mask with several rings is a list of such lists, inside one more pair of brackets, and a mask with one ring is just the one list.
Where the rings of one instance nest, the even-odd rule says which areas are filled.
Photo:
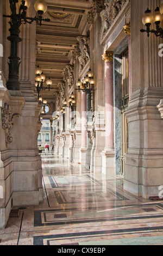
[[101, 36], [102, 38], [108, 32], [109, 28], [111, 27], [112, 23], [116, 19], [117, 15], [122, 10], [124, 4], [126, 4], [126, 0], [110, 0], [109, 2], [105, 0], [105, 10], [101, 12], [101, 19], [102, 19], [102, 29], [101, 29]]

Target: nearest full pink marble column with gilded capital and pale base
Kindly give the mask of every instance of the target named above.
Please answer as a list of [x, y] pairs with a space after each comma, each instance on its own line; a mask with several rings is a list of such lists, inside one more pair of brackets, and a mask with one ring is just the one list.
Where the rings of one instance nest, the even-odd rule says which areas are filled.
[[105, 149], [102, 152], [102, 173], [115, 175], [113, 52], [103, 54], [105, 61]]

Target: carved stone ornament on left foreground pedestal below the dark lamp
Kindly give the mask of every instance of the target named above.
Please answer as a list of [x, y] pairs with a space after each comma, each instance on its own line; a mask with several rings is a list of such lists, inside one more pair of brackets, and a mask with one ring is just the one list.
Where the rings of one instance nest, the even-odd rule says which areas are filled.
[[5, 142], [10, 144], [13, 141], [11, 137], [13, 122], [16, 117], [20, 117], [19, 114], [12, 114], [10, 111], [10, 106], [5, 103], [2, 109], [2, 128], [5, 131]]

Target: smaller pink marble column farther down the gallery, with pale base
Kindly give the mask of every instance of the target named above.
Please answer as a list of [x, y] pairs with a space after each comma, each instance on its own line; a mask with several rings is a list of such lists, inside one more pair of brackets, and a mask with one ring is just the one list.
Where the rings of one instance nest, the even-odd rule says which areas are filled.
[[80, 159], [79, 162], [85, 165], [86, 160], [86, 93], [82, 91], [82, 145], [79, 149], [80, 152]]

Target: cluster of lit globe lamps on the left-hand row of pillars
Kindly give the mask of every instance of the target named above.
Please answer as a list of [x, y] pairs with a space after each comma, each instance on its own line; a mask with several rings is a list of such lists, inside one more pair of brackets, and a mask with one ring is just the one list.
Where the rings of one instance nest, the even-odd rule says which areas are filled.
[[43, 87], [43, 82], [45, 81], [45, 75], [43, 75], [42, 70], [40, 69], [39, 65], [37, 66], [35, 70], [36, 78], [35, 78], [35, 86], [37, 89], [38, 99], [40, 97], [40, 90], [50, 90], [50, 87], [52, 85], [52, 80], [49, 78], [46, 81], [47, 87]]

